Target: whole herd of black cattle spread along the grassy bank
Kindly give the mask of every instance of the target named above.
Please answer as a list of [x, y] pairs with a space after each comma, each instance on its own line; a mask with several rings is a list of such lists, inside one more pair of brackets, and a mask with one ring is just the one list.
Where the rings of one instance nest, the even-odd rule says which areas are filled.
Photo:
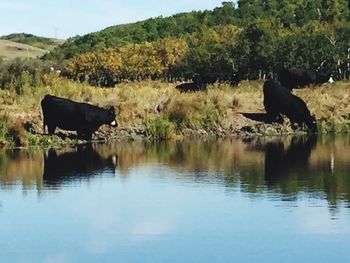
[[[283, 70], [279, 81], [267, 80], [263, 85], [264, 107], [272, 122], [283, 123], [285, 115], [290, 122], [302, 126], [305, 124], [311, 132], [317, 132], [315, 117], [310, 114], [306, 103], [292, 93], [293, 88], [305, 85], [319, 85], [333, 82], [330, 74], [315, 70]], [[202, 90], [207, 84], [229, 82], [237, 85], [238, 74], [196, 74], [192, 82], [176, 86], [180, 92]], [[69, 99], [46, 95], [41, 101], [44, 133], [46, 127], [49, 134], [56, 128], [77, 132], [77, 138], [90, 140], [92, 134], [103, 124], [117, 126], [114, 108], [100, 108], [88, 103], [75, 102]]]

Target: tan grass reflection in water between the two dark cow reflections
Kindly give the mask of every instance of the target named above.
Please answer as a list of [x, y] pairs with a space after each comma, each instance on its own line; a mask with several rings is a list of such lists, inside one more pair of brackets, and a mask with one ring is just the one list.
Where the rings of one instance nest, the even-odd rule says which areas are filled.
[[105, 145], [118, 155], [118, 171], [127, 175], [130, 168], [146, 164], [165, 164], [189, 172], [230, 171], [238, 163], [261, 159], [262, 153], [244, 154], [247, 145], [241, 140], [181, 141], [172, 143], [118, 143]]

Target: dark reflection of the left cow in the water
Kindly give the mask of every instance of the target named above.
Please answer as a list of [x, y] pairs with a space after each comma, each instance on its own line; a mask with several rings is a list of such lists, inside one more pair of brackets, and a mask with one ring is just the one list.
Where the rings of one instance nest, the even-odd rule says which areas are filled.
[[117, 156], [102, 158], [91, 145], [79, 146], [75, 151], [58, 153], [50, 149], [44, 158], [43, 179], [45, 185], [88, 179], [104, 174], [106, 170], [113, 174]]

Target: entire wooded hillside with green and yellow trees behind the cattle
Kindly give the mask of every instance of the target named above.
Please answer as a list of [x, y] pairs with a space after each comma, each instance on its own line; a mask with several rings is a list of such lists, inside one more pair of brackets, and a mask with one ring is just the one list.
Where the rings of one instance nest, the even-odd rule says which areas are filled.
[[118, 25], [68, 39], [43, 57], [64, 75], [111, 86], [194, 73], [275, 76], [281, 68], [350, 76], [346, 0], [239, 0], [213, 10]]

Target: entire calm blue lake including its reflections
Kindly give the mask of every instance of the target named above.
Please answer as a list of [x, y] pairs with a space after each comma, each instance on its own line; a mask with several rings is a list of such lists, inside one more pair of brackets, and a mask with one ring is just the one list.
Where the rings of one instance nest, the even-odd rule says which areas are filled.
[[0, 262], [349, 262], [350, 137], [0, 152]]

